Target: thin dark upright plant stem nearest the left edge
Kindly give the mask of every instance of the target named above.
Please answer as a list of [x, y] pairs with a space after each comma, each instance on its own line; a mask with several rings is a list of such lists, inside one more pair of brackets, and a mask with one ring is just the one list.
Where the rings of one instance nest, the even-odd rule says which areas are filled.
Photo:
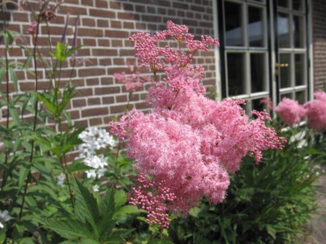
[[[3, 21], [4, 21], [4, 29], [5, 29], [5, 34], [7, 34], [7, 22], [6, 22], [6, 16], [5, 16], [5, 7], [4, 5], [2, 6], [2, 15], [3, 15]], [[5, 35], [5, 39], [6, 39], [6, 35]], [[7, 121], [6, 121], [6, 128], [7, 130], [9, 129], [9, 102], [10, 102], [10, 97], [9, 97], [9, 67], [8, 67], [8, 46], [9, 44], [6, 43], [6, 47], [5, 47], [5, 54], [6, 54], [6, 95], [7, 95]], [[6, 150], [6, 155], [5, 155], [5, 164], [8, 163], [8, 151]], [[2, 180], [2, 184], [1, 184], [1, 191], [3, 191], [3, 188], [6, 184], [6, 171], [4, 171], [4, 175], [3, 175], [3, 180]]]

